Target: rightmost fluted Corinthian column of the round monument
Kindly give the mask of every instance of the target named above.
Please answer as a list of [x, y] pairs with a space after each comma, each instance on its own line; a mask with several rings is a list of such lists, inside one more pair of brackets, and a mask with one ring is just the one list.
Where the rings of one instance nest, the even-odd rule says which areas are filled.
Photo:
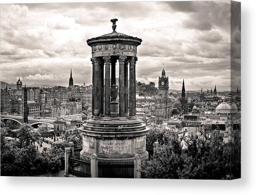
[[136, 118], [136, 76], [135, 76], [135, 64], [137, 57], [131, 57], [129, 59], [130, 64], [130, 77], [129, 77], [129, 118]]

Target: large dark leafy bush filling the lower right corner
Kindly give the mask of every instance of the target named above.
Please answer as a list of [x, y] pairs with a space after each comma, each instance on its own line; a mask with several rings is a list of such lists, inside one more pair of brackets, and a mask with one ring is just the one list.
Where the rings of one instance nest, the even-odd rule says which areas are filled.
[[[182, 146], [186, 147], [182, 150]], [[230, 172], [231, 149], [232, 143], [224, 144], [219, 131], [214, 131], [211, 138], [204, 134], [185, 138], [167, 132], [151, 160], [142, 163], [141, 171], [147, 178], [239, 178], [241, 170]], [[241, 167], [239, 159], [235, 162]]]

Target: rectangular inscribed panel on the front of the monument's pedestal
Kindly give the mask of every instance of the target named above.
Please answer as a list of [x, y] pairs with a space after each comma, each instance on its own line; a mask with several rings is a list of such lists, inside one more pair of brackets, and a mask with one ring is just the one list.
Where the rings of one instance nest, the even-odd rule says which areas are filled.
[[132, 154], [132, 140], [98, 140], [98, 150], [103, 155]]

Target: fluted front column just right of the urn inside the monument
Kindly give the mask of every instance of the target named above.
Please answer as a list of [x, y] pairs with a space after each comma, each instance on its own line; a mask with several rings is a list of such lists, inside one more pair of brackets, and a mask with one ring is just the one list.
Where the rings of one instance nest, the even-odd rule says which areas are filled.
[[119, 117], [125, 117], [124, 63], [126, 56], [119, 56]]

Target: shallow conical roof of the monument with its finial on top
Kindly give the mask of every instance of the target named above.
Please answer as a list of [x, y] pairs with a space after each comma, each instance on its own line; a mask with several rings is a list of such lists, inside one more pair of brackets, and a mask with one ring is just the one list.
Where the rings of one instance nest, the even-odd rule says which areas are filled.
[[113, 40], [115, 40], [115, 41], [117, 41], [117, 40], [120, 40], [120, 41], [124, 40], [124, 41], [132, 41], [136, 45], [140, 45], [141, 42], [142, 42], [141, 39], [115, 31], [115, 29], [117, 27], [115, 22], [117, 22], [117, 21], [118, 21], [117, 18], [114, 18], [114, 19], [110, 20], [110, 22], [113, 23], [113, 25], [112, 25], [113, 32], [112, 33], [108, 33], [108, 34], [105, 34], [105, 35], [101, 35], [99, 37], [94, 37], [94, 38], [88, 39], [87, 40], [87, 44], [89, 46], [91, 46], [93, 44], [96, 44], [97, 42], [106, 42], [106, 41], [110, 42], [110, 41], [113, 41]]

